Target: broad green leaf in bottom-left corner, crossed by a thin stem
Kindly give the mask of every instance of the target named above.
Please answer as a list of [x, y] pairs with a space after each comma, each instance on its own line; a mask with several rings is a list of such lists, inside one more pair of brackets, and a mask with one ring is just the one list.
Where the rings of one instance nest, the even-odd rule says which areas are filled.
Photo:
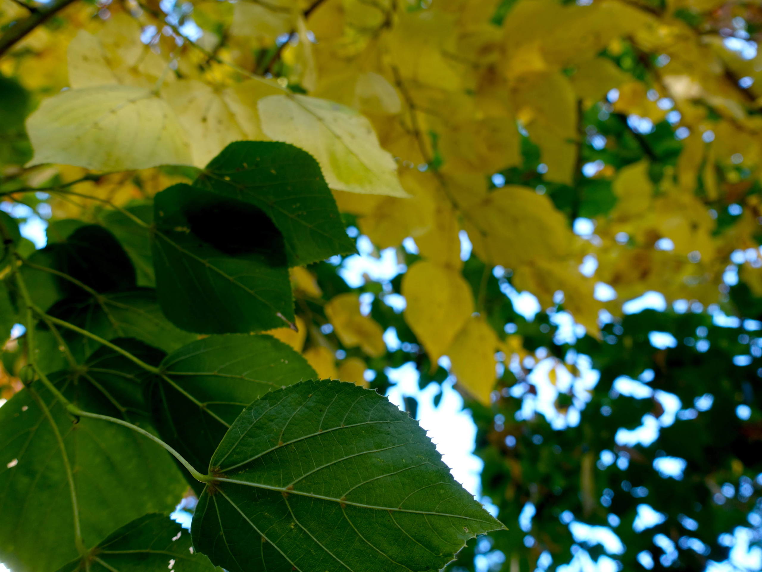
[[[83, 410], [120, 412], [87, 378], [61, 372], [59, 390]], [[146, 512], [168, 513], [187, 487], [164, 449], [126, 427], [72, 416], [39, 381], [72, 467], [85, 546]], [[14, 572], [76, 558], [74, 513], [53, 424], [29, 389], [0, 407], [0, 561]]]

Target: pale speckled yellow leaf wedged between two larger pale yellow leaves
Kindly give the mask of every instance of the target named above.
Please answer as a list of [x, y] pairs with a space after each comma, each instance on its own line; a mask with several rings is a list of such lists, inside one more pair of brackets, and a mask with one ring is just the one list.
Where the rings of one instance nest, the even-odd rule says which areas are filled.
[[163, 88], [162, 95], [188, 135], [197, 167], [206, 166], [228, 143], [248, 139], [225, 99], [210, 85], [181, 79]]

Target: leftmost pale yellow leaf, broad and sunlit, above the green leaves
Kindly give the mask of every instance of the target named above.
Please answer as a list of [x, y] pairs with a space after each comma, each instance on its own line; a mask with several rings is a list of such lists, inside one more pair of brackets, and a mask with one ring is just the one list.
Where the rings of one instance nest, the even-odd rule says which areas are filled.
[[166, 102], [148, 89], [103, 85], [71, 89], [27, 119], [28, 165], [63, 163], [96, 171], [191, 165], [186, 134]]

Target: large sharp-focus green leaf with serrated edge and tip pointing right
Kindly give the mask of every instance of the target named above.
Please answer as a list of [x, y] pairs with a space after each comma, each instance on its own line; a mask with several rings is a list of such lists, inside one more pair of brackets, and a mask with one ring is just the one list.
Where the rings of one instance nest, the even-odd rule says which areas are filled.
[[231, 572], [440, 570], [504, 528], [392, 403], [306, 381], [251, 403], [215, 451], [194, 546]]

